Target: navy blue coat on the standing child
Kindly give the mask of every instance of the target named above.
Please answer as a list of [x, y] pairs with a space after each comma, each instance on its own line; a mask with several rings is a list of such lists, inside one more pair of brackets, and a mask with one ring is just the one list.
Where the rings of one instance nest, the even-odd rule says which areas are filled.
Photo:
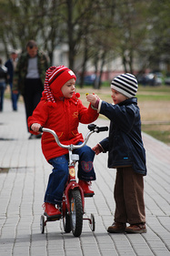
[[132, 166], [135, 172], [146, 175], [137, 98], [128, 98], [116, 105], [102, 101], [100, 114], [111, 121], [109, 137], [100, 142], [105, 152], [108, 151], [108, 168]]

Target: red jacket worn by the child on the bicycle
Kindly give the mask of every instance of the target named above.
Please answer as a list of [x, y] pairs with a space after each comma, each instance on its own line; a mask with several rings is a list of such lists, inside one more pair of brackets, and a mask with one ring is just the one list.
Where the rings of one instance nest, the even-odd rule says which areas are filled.
[[[84, 141], [83, 135], [78, 132], [79, 122], [83, 124], [92, 123], [98, 118], [97, 111], [82, 104], [82, 101], [74, 94], [72, 98], [58, 98], [56, 106], [49, 106], [45, 97], [35, 108], [33, 115], [28, 118], [28, 127], [33, 123], [39, 123], [44, 128], [55, 130], [60, 142], [65, 145], [76, 144]], [[31, 133], [36, 134], [30, 130]], [[45, 132], [42, 136], [42, 150], [45, 159], [53, 159], [68, 153], [65, 148], [60, 148], [53, 135]]]

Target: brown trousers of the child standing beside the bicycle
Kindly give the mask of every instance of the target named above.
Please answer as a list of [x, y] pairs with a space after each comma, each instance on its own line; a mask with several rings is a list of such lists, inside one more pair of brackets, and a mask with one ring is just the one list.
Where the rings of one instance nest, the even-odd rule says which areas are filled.
[[118, 168], [115, 179], [115, 222], [145, 223], [144, 179], [131, 167]]

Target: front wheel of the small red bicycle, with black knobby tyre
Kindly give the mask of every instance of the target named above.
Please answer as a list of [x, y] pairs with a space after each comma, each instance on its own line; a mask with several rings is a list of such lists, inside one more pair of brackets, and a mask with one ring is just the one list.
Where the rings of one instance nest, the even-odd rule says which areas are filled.
[[79, 237], [83, 228], [83, 204], [80, 190], [74, 189], [70, 192], [70, 221], [71, 229], [75, 237]]

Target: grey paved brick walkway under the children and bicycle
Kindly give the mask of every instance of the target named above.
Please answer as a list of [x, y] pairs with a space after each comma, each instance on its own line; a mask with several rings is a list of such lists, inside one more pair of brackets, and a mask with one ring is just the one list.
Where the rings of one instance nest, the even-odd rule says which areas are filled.
[[[51, 167], [39, 139], [28, 140], [25, 109], [11, 110], [5, 100], [0, 113], [0, 255], [2, 256], [152, 256], [170, 255], [170, 147], [144, 134], [148, 175], [145, 177], [147, 233], [108, 234], [114, 220], [115, 169], [107, 169], [107, 154], [95, 158], [95, 197], [85, 199], [86, 215], [94, 213], [95, 232], [84, 221], [80, 238], [65, 233], [62, 220], [47, 222], [40, 233], [41, 205]], [[108, 122], [98, 119], [98, 125]], [[80, 126], [85, 134], [86, 126]], [[88, 145], [104, 138], [93, 135]]]

